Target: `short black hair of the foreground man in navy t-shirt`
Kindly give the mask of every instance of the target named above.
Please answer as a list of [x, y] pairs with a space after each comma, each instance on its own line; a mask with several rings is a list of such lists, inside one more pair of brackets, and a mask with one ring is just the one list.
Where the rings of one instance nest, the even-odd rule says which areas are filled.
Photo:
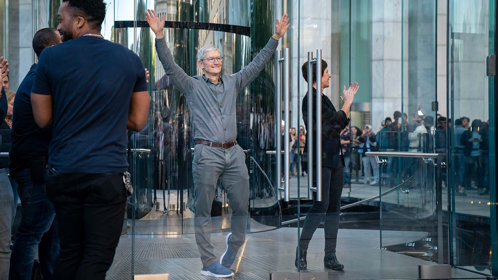
[[106, 18], [106, 3], [103, 0], [64, 0], [64, 2], [67, 2], [68, 10], [74, 16], [85, 18], [92, 28], [100, 30]]

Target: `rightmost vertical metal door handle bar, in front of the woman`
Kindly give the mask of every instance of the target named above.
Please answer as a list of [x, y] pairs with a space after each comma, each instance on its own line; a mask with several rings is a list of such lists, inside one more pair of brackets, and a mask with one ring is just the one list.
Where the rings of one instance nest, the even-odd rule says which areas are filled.
[[316, 50], [316, 200], [322, 201], [322, 50], [321, 49]]

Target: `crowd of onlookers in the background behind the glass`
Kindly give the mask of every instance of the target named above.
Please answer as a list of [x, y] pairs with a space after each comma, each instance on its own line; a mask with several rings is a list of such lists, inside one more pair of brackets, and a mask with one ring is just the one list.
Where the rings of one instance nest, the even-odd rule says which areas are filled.
[[[420, 107], [419, 107], [420, 110]], [[401, 121], [401, 116], [403, 120]], [[394, 121], [393, 121], [394, 120]], [[351, 186], [351, 178], [364, 177], [366, 184], [379, 183], [379, 166], [373, 156], [365, 155], [368, 151], [411, 151], [411, 152], [443, 152], [447, 150], [447, 128], [452, 128], [453, 147], [451, 151], [457, 162], [458, 192], [457, 195], [466, 195], [465, 190], [477, 190], [479, 194], [489, 193], [489, 120], [483, 122], [468, 117], [455, 120], [451, 127], [451, 119], [436, 115], [436, 119], [429, 115], [412, 115], [410, 121], [406, 113], [396, 111], [393, 117], [387, 117], [381, 123], [376, 133], [371, 125], [366, 125], [363, 130], [356, 126], [347, 126], [341, 132], [341, 149], [345, 160], [344, 187]], [[403, 126], [403, 129], [401, 129]], [[283, 126], [282, 126], [283, 132]], [[403, 133], [400, 133], [403, 132]], [[290, 173], [304, 176], [302, 164], [307, 164], [303, 158], [306, 132], [304, 127], [299, 127], [299, 135], [295, 128], [290, 129]], [[299, 145], [298, 145], [299, 143]], [[300, 153], [300, 156], [297, 156]], [[297, 161], [301, 159], [301, 166]], [[391, 169], [395, 170], [396, 167]], [[394, 171], [386, 168], [385, 179], [389, 180]], [[446, 181], [446, 180], [445, 180]], [[386, 181], [387, 183], [387, 181]]]

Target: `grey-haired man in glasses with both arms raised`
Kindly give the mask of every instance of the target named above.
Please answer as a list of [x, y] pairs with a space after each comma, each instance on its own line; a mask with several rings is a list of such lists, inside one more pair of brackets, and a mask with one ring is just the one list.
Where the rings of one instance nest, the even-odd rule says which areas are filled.
[[[253, 81], [275, 51], [278, 40], [289, 27], [284, 14], [276, 20], [275, 33], [266, 46], [248, 66], [235, 74], [221, 73], [223, 57], [216, 46], [199, 49], [198, 66], [202, 76], [188, 76], [173, 61], [164, 39], [164, 16], [159, 18], [153, 10], [146, 14], [150, 28], [156, 34], [159, 60], [173, 85], [187, 99], [193, 115], [195, 150], [192, 163], [195, 193], [195, 238], [203, 268], [202, 275], [219, 278], [231, 277], [229, 270], [246, 236], [249, 209], [249, 175], [246, 155], [237, 144], [236, 105], [238, 93]], [[232, 208], [231, 230], [226, 238], [227, 249], [220, 262], [214, 255], [211, 243], [211, 206], [218, 178], [227, 190]], [[220, 264], [221, 263], [221, 264]]]

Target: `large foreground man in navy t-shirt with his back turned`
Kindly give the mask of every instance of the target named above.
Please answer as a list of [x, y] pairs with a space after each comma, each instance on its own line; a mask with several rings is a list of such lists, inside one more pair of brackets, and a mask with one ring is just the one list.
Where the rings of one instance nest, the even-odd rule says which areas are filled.
[[52, 125], [47, 197], [59, 223], [54, 279], [104, 280], [124, 222], [126, 129], [141, 131], [149, 94], [140, 58], [100, 35], [103, 0], [64, 0], [64, 43], [47, 48], [31, 90], [38, 126]]

